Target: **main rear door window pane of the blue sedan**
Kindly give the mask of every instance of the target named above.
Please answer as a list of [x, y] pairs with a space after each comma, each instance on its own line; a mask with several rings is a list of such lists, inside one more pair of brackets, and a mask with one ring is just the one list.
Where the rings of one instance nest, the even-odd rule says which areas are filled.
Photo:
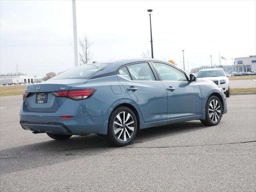
[[136, 81], [154, 81], [156, 80], [148, 63], [138, 63], [127, 66], [132, 80]]

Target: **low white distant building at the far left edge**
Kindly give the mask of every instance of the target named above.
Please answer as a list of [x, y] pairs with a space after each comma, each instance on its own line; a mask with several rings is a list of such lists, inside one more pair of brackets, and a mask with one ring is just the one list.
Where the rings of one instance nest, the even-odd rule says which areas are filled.
[[35, 77], [33, 75], [12, 75], [12, 76], [0, 76], [0, 84], [5, 83], [33, 83]]

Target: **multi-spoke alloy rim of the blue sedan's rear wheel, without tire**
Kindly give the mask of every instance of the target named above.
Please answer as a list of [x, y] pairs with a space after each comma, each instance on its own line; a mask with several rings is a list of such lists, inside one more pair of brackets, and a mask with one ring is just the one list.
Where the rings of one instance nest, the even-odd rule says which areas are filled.
[[114, 134], [120, 141], [127, 141], [134, 133], [134, 120], [130, 113], [120, 112], [114, 120]]

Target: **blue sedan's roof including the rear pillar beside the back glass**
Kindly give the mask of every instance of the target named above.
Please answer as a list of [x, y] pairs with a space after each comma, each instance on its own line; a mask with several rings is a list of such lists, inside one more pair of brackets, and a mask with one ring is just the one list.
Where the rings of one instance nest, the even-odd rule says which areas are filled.
[[[135, 63], [135, 62], [148, 62], [148, 61], [158, 61], [158, 62], [165, 62], [159, 59], [152, 59], [152, 58], [135, 58], [135, 59], [122, 59], [122, 60], [110, 60], [110, 61], [101, 61], [101, 62], [94, 62], [92, 64], [99, 64], [99, 63], [106, 63], [109, 64], [104, 70], [98, 71], [95, 74], [93, 74], [90, 78], [100, 78], [103, 76], [110, 76], [115, 75], [116, 70], [120, 68], [123, 65]], [[169, 63], [171, 64], [171, 63]]]

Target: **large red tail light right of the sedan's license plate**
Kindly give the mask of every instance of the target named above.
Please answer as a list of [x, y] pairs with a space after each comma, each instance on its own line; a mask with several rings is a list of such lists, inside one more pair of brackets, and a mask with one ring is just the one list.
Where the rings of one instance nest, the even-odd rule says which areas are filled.
[[69, 90], [52, 92], [56, 97], [67, 97], [73, 100], [87, 99], [94, 94], [96, 89], [84, 89], [84, 90]]

